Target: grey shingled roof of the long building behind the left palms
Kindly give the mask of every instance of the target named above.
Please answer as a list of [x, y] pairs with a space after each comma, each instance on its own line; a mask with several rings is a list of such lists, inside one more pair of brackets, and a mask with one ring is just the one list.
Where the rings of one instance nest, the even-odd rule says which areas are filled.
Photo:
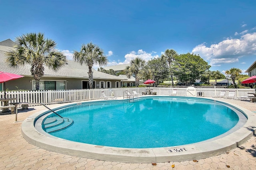
[[[25, 64], [24, 66], [20, 66], [19, 68], [9, 68], [6, 63], [6, 51], [12, 49], [10, 45], [12, 44], [10, 41], [5, 40], [0, 42], [0, 71], [10, 72], [14, 74], [20, 74], [23, 76], [31, 76], [30, 65]], [[12, 41], [13, 42], [13, 41]], [[14, 43], [14, 42], [13, 42]], [[66, 65], [60, 68], [57, 72], [49, 69], [47, 66], [44, 67], [44, 76], [48, 77], [66, 77], [66, 78], [88, 78], [88, 66], [72, 60], [67, 60]], [[114, 76], [111, 74], [103, 73], [96, 71], [92, 68], [93, 78], [94, 79], [108, 79], [108, 80], [123, 80], [118, 76]]]

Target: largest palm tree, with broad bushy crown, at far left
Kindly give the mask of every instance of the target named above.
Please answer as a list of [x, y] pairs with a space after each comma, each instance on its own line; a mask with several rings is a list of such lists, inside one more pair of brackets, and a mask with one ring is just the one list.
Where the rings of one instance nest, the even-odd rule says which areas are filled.
[[30, 72], [36, 80], [36, 90], [39, 90], [39, 80], [44, 75], [44, 66], [57, 71], [66, 64], [66, 57], [56, 50], [56, 42], [46, 39], [43, 33], [26, 33], [16, 37], [13, 50], [6, 53], [9, 67], [18, 68], [30, 64]]

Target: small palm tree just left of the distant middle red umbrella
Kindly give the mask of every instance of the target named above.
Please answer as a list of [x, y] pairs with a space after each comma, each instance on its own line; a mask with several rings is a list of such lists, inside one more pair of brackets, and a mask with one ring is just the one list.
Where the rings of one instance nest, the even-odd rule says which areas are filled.
[[124, 72], [130, 78], [131, 76], [135, 75], [135, 86], [138, 87], [140, 83], [140, 78], [144, 74], [144, 66], [146, 61], [136, 57], [130, 61], [130, 66], [126, 66]]

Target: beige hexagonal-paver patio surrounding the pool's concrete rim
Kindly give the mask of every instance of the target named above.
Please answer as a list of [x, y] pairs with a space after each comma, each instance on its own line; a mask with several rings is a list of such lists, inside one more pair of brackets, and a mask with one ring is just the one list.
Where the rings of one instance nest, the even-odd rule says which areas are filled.
[[[223, 99], [230, 103], [256, 111], [256, 103]], [[56, 105], [48, 105], [53, 107]], [[28, 143], [21, 134], [21, 124], [26, 117], [45, 109], [43, 106], [29, 107], [29, 111], [15, 115], [0, 115], [0, 169], [1, 170], [256, 170], [256, 136], [240, 147], [198, 162], [123, 163], [80, 158], [40, 149]], [[255, 122], [256, 126], [256, 122]], [[154, 162], [153, 162], [154, 163]], [[174, 165], [174, 168], [172, 168]]]

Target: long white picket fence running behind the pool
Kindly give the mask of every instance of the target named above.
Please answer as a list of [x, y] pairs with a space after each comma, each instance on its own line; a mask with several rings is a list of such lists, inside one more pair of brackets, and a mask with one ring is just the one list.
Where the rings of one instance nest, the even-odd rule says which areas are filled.
[[[102, 91], [106, 96], [125, 96], [125, 91], [128, 90], [132, 93], [132, 90], [136, 90], [137, 93], [146, 92], [147, 88], [102, 88], [102, 89], [82, 89], [82, 90], [48, 90], [48, 91], [20, 91], [20, 92], [6, 92], [6, 98], [16, 98], [10, 100], [11, 102], [22, 103], [42, 103], [42, 104], [55, 104], [61, 102], [75, 102], [83, 100], [94, 100], [102, 98]], [[188, 95], [187, 87], [150, 87], [153, 92], [157, 94], [172, 94], [173, 89], [177, 89], [178, 96], [190, 96]], [[236, 91], [236, 97], [248, 96], [248, 93], [255, 92], [254, 89], [230, 89], [230, 88], [215, 88], [215, 87], [196, 87], [195, 96], [212, 97], [220, 94], [220, 91], [226, 90], [226, 95], [230, 90]], [[0, 98], [4, 98], [4, 92], [0, 93]], [[0, 106], [3, 106], [1, 102]]]

